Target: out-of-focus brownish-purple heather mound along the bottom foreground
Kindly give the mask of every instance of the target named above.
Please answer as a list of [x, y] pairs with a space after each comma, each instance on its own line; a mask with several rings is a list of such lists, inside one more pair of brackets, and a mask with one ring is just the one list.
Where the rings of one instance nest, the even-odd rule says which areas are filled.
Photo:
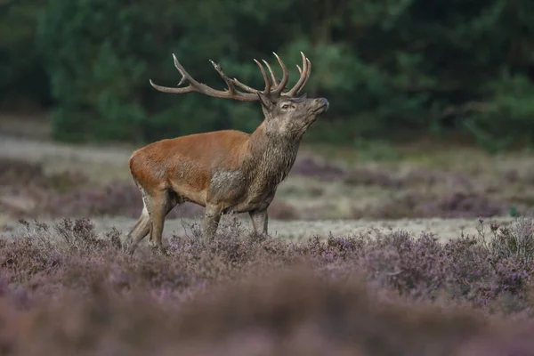
[[[358, 279], [305, 269], [212, 287], [161, 303], [142, 290], [95, 284], [85, 298], [61, 293], [29, 310], [0, 303], [12, 355], [449, 355], [486, 328], [473, 312], [381, 303]], [[0, 335], [7, 328], [0, 326]]]

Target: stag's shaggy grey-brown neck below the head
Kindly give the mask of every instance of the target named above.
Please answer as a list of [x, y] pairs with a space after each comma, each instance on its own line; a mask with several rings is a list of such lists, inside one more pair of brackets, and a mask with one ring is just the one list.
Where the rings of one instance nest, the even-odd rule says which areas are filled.
[[275, 188], [289, 174], [299, 146], [300, 139], [271, 132], [263, 122], [247, 142], [243, 167], [249, 182], [263, 189]]

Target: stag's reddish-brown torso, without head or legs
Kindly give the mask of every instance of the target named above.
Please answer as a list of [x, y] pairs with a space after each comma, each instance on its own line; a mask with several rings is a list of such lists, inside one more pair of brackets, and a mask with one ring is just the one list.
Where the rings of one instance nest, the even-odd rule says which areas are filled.
[[223, 130], [154, 142], [134, 152], [130, 170], [140, 189], [172, 190], [177, 203], [220, 205], [235, 213], [264, 208], [295, 163], [298, 143], [270, 142], [262, 131]]

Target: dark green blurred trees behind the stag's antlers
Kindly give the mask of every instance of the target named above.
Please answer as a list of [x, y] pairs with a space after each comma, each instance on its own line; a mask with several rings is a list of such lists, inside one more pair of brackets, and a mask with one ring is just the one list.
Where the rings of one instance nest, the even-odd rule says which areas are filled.
[[298, 52], [306, 53], [313, 63], [306, 91], [331, 103], [328, 120], [312, 127], [310, 140], [452, 128], [498, 151], [531, 142], [534, 132], [530, 0], [2, 0], [0, 6], [7, 8], [3, 28], [16, 28], [11, 35], [1, 31], [0, 90], [28, 82], [42, 88], [49, 76], [61, 140], [153, 141], [230, 127], [250, 132], [261, 119], [257, 103], [158, 93], [149, 79], [176, 85], [176, 53], [208, 85], [223, 88], [213, 59], [231, 77], [261, 88], [252, 59], [275, 65], [273, 51], [289, 66], [290, 85]]

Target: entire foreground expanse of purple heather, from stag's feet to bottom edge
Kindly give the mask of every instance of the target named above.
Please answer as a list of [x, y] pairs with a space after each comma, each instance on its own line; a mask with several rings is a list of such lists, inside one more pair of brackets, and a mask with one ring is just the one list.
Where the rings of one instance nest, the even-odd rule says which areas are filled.
[[166, 255], [143, 246], [129, 256], [121, 231], [98, 232], [89, 219], [21, 220], [0, 239], [0, 347], [11, 355], [527, 352], [534, 223], [479, 224], [490, 233], [447, 243], [405, 231], [291, 242], [234, 219], [213, 241], [191, 225], [166, 239]]

